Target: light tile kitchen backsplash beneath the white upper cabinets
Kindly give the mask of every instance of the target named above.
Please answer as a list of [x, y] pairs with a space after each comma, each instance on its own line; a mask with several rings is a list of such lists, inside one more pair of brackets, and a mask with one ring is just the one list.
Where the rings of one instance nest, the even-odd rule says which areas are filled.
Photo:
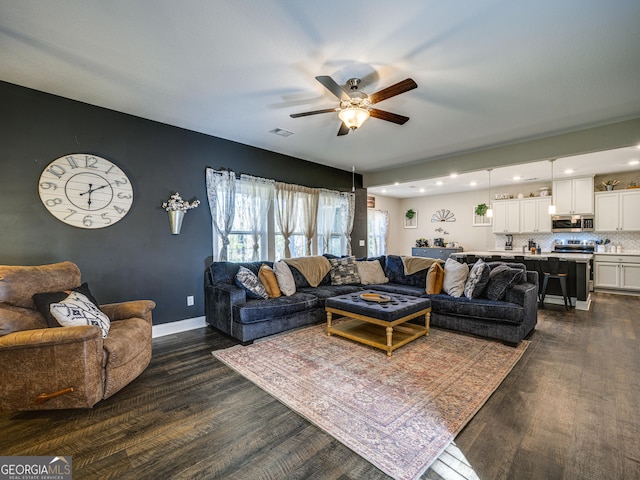
[[[528, 245], [529, 240], [540, 244], [542, 251], [553, 250], [554, 241], [562, 240], [606, 240], [609, 245], [621, 245], [623, 250], [640, 250], [640, 232], [585, 232], [585, 233], [537, 233], [537, 234], [515, 234], [513, 235], [513, 250], [522, 251], [522, 246]], [[506, 235], [495, 235], [495, 247], [497, 250], [504, 249], [507, 241]], [[462, 245], [464, 247], [464, 245]], [[608, 251], [608, 249], [607, 249]]]

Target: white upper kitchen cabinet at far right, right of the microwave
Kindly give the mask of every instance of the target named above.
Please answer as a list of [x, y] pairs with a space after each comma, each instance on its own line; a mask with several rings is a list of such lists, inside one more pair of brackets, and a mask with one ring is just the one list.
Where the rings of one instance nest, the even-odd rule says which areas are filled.
[[640, 231], [640, 189], [595, 195], [597, 232]]

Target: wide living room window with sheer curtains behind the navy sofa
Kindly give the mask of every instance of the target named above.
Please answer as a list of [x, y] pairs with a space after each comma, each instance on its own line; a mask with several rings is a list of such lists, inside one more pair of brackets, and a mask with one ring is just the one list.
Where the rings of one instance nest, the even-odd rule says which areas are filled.
[[353, 193], [207, 169], [207, 196], [218, 260], [350, 253]]

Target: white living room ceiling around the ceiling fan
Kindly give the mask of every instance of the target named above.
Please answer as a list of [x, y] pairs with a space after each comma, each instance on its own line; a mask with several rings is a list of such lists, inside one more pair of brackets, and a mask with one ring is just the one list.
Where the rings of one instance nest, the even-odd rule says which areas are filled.
[[[640, 116], [638, 0], [0, 0], [0, 80], [367, 173]], [[411, 117], [337, 137], [316, 80]], [[287, 138], [269, 133], [294, 132]]]

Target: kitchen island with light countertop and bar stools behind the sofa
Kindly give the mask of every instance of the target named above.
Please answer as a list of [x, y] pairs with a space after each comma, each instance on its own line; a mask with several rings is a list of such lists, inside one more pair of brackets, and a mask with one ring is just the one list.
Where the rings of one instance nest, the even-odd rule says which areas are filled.
[[[488, 250], [453, 253], [451, 257], [463, 263], [473, 263], [472, 260], [477, 258], [482, 258], [485, 261], [495, 259], [505, 262], [520, 262], [524, 263], [528, 270], [537, 272], [541, 272], [541, 260], [546, 260], [549, 257], [559, 258], [562, 261], [569, 262], [567, 294], [571, 299], [572, 305], [577, 310], [589, 310], [591, 306], [592, 253], [542, 252], [533, 254], [531, 252], [522, 253], [518, 250]], [[540, 273], [539, 288], [542, 288], [542, 273]], [[559, 282], [549, 282], [545, 303], [564, 304]]]

